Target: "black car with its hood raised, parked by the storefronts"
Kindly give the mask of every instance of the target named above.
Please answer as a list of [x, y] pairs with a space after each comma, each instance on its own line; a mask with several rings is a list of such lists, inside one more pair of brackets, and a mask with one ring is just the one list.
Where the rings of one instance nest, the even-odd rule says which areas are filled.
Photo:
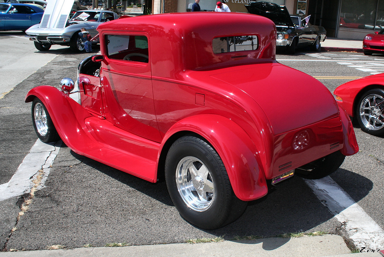
[[313, 51], [320, 51], [320, 43], [326, 39], [323, 27], [305, 22], [299, 16], [290, 16], [284, 5], [269, 2], [256, 2], [245, 5], [249, 13], [271, 19], [277, 30], [276, 46], [289, 53], [295, 53], [296, 48], [310, 46]]

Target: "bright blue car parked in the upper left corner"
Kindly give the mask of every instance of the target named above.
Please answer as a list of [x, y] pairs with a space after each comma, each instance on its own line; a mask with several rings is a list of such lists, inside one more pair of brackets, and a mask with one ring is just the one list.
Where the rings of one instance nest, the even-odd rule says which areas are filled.
[[25, 31], [38, 24], [43, 10], [23, 3], [0, 3], [0, 30]]

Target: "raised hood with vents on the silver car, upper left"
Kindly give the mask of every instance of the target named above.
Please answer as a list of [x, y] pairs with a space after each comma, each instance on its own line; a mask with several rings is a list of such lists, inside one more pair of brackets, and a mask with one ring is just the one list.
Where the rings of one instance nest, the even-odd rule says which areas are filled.
[[64, 28], [70, 15], [73, 1], [68, 0], [49, 0], [40, 28]]

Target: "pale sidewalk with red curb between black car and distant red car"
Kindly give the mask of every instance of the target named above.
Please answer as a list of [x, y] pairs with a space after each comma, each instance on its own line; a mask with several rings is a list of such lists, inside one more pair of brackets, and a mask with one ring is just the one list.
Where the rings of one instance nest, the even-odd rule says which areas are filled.
[[362, 53], [362, 40], [327, 37], [321, 42], [322, 51]]

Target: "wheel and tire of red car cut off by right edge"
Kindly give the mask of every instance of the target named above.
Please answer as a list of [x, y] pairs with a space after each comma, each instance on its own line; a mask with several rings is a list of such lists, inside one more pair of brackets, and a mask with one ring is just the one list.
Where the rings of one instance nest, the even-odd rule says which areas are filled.
[[384, 90], [374, 88], [362, 95], [355, 113], [362, 131], [384, 135]]

